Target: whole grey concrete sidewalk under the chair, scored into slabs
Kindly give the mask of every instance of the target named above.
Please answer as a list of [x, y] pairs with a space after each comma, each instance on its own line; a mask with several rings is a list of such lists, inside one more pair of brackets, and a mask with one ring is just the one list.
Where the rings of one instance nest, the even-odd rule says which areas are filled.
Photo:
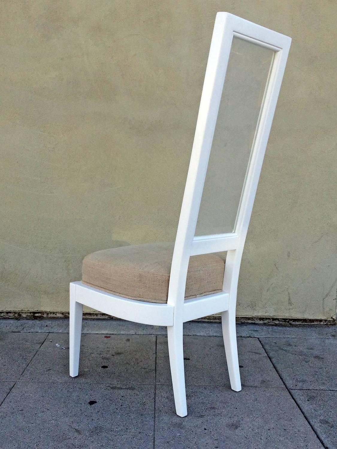
[[229, 387], [217, 323], [186, 323], [188, 416], [175, 414], [165, 329], [85, 320], [68, 375], [66, 320], [0, 321], [0, 448], [337, 448], [337, 329], [238, 325]]

